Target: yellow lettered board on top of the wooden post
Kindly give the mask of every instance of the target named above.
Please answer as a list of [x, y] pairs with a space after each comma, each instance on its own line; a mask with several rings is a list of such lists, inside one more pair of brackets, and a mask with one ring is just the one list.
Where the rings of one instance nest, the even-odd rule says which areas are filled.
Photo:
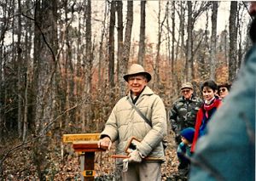
[[79, 133], [79, 134], [63, 134], [63, 143], [73, 143], [76, 141], [97, 141], [100, 139], [100, 133]]

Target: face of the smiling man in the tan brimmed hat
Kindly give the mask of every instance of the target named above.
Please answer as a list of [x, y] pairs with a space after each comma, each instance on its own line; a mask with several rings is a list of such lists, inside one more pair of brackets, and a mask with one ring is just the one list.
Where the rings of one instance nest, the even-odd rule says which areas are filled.
[[143, 91], [143, 88], [148, 84], [147, 78], [143, 75], [129, 76], [128, 88], [133, 95], [138, 95]]

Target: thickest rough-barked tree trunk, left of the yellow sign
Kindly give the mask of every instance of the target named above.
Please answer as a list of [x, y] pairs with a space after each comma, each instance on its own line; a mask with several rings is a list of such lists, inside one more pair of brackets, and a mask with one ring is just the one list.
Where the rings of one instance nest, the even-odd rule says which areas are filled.
[[49, 137], [44, 133], [49, 122], [55, 117], [55, 54], [57, 50], [57, 8], [55, 0], [44, 0], [36, 3], [34, 59], [36, 65], [36, 135], [40, 135], [38, 142], [33, 145], [33, 161], [38, 170], [38, 178], [45, 179], [46, 150]]

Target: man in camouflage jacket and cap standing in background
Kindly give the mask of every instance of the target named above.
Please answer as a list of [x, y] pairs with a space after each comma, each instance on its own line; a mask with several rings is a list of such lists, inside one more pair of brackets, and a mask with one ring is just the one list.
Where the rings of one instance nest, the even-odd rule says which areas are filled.
[[201, 98], [195, 97], [194, 88], [190, 82], [182, 84], [181, 93], [182, 97], [175, 101], [169, 114], [177, 144], [181, 142], [180, 132], [184, 128], [195, 127], [196, 113], [203, 104]]

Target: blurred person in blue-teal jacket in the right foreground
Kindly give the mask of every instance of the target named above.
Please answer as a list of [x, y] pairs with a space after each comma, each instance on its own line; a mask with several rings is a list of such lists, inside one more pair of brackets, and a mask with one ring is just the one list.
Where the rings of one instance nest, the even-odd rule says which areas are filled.
[[247, 52], [236, 82], [212, 117], [191, 159], [191, 181], [255, 180], [256, 2], [249, 13], [253, 47]]

